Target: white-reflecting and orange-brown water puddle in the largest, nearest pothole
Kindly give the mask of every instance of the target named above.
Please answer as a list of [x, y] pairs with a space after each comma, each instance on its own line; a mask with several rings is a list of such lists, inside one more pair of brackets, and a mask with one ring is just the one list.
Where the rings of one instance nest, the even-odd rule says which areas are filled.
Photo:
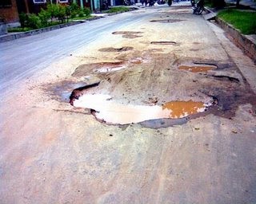
[[109, 95], [85, 94], [74, 100], [73, 105], [94, 110], [94, 116], [108, 124], [133, 124], [146, 120], [184, 118], [205, 112], [212, 104], [192, 100], [170, 101], [162, 106], [119, 104]]

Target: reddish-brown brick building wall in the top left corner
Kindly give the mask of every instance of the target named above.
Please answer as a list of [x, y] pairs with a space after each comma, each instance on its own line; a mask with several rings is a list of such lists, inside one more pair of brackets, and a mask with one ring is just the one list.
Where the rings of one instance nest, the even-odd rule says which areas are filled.
[[0, 7], [0, 18], [4, 18], [6, 23], [18, 22], [18, 9], [15, 0], [11, 0], [11, 6]]

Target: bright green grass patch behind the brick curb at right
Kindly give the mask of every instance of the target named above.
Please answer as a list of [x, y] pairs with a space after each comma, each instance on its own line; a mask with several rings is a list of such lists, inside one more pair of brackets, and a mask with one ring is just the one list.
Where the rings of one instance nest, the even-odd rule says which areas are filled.
[[239, 29], [243, 34], [256, 34], [256, 12], [228, 9], [219, 12], [218, 17]]

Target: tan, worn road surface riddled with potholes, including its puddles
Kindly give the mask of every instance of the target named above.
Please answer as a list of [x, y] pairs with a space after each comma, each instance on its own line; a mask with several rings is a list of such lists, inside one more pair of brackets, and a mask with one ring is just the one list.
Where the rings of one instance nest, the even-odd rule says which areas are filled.
[[256, 66], [191, 13], [112, 16], [142, 15], [2, 99], [3, 203], [256, 202]]

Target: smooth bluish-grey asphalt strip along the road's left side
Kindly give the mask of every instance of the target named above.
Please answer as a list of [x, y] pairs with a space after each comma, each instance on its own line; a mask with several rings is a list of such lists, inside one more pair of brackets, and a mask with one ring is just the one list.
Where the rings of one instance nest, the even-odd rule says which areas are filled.
[[139, 22], [149, 13], [118, 14], [92, 22], [40, 33], [0, 44], [0, 91], [3, 94], [20, 80], [30, 77], [54, 61], [89, 45], [110, 30]]

